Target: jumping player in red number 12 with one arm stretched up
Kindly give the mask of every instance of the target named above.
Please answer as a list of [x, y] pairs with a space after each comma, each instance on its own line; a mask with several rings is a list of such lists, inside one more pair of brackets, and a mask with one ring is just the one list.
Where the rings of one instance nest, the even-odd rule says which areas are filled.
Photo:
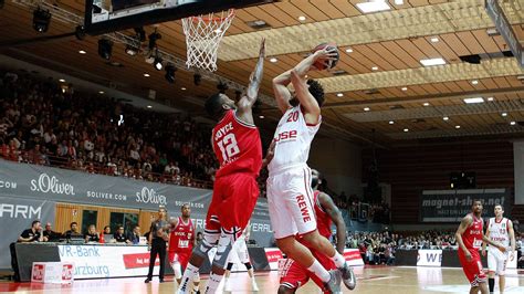
[[222, 280], [232, 244], [242, 234], [259, 197], [256, 177], [262, 168], [262, 143], [254, 125], [252, 107], [262, 82], [265, 40], [260, 44], [256, 66], [245, 95], [238, 104], [224, 94], [206, 102], [206, 111], [218, 120], [211, 136], [220, 169], [216, 174], [213, 196], [206, 218], [203, 241], [192, 251], [178, 293], [188, 293], [189, 281], [197, 274], [208, 251], [217, 245], [206, 293], [214, 293]]

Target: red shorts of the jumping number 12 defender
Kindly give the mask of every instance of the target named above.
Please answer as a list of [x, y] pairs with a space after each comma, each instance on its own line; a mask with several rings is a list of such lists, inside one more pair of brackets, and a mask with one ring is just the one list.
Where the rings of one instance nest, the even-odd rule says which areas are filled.
[[223, 229], [240, 238], [253, 213], [259, 192], [256, 178], [251, 174], [238, 172], [217, 178], [206, 217], [206, 231], [220, 233]]

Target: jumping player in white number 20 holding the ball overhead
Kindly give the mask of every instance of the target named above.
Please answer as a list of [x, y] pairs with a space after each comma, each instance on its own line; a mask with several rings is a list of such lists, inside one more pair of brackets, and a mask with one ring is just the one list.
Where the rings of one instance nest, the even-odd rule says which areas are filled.
[[[316, 230], [311, 169], [306, 162], [311, 143], [322, 122], [324, 90], [318, 82], [307, 80], [305, 75], [316, 61], [329, 62], [335, 56], [333, 50], [316, 51], [273, 80], [276, 103], [283, 116], [273, 139], [274, 157], [268, 166], [268, 203], [276, 244], [287, 258], [315, 273], [331, 292], [340, 291], [340, 273], [348, 287], [348, 284], [354, 287], [355, 280], [344, 256]], [[294, 94], [287, 88], [290, 83]], [[296, 234], [303, 235], [311, 248], [332, 259], [338, 271], [326, 271], [311, 251], [295, 240]]]

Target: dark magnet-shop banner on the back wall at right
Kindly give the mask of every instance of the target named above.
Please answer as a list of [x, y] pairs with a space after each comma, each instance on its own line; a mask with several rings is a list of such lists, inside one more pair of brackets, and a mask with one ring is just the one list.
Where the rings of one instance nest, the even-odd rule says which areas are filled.
[[473, 200], [483, 201], [484, 214], [493, 216], [496, 204], [510, 212], [509, 189], [425, 190], [420, 197], [421, 222], [460, 222], [471, 212]]

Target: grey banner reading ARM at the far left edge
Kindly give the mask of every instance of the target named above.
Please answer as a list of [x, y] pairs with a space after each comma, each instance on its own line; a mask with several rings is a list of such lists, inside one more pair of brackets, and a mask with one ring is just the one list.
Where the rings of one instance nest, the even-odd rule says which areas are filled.
[[0, 197], [0, 223], [3, 228], [0, 239], [0, 252], [3, 252], [0, 254], [0, 269], [11, 269], [9, 244], [17, 242], [22, 231], [31, 228], [33, 220], [42, 221], [42, 228], [45, 222], [54, 223], [54, 209], [53, 201]]

